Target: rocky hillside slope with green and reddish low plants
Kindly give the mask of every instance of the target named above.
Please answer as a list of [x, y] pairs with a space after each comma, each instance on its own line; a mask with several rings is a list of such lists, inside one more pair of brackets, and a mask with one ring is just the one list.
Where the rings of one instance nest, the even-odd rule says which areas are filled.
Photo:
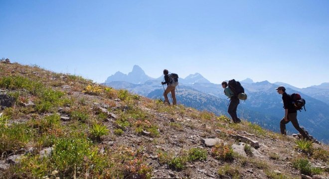
[[327, 145], [74, 75], [1, 62], [0, 97], [0, 179], [329, 177]]

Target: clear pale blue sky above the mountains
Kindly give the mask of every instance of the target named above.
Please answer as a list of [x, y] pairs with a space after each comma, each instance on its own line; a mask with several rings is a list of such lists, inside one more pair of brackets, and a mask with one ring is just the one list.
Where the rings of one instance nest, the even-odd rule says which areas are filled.
[[210, 82], [329, 82], [329, 0], [0, 0], [0, 58], [103, 83], [139, 65]]

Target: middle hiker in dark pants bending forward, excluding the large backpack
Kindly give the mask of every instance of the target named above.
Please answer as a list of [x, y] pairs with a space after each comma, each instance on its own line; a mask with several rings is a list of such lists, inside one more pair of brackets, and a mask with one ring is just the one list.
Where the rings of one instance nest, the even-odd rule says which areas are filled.
[[234, 123], [240, 123], [241, 120], [238, 118], [236, 114], [236, 109], [238, 108], [238, 105], [240, 103], [240, 99], [234, 95], [233, 91], [228, 88], [227, 82], [222, 82], [222, 87], [224, 89], [224, 94], [230, 98], [230, 103], [228, 105], [228, 114], [232, 117], [232, 120]]

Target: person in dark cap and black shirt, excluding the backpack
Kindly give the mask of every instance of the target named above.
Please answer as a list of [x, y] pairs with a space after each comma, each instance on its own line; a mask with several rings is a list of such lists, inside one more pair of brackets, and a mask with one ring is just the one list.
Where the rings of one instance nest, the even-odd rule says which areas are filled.
[[289, 94], [286, 93], [286, 88], [280, 86], [276, 88], [279, 94], [282, 94], [283, 108], [285, 108], [285, 116], [280, 121], [280, 130], [282, 135], [287, 135], [286, 124], [291, 121], [296, 130], [302, 135], [303, 138], [311, 140], [306, 131], [301, 128], [297, 120], [297, 110], [294, 107], [292, 99]]

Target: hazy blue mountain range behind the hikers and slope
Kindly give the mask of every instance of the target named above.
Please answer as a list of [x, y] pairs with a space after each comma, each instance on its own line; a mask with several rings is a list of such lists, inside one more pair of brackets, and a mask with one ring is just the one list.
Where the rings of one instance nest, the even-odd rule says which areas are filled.
[[[127, 89], [150, 98], [163, 99], [164, 87], [160, 84], [163, 79], [163, 76], [151, 78], [143, 69], [135, 65], [128, 75], [116, 72], [107, 78], [104, 85], [115, 89]], [[229, 100], [224, 95], [221, 85], [210, 83], [199, 73], [191, 74], [184, 79], [179, 78], [178, 81], [179, 86], [176, 89], [178, 104], [211, 111], [217, 115], [228, 115], [226, 111]], [[255, 83], [249, 78], [240, 82], [248, 94], [248, 99], [241, 101], [238, 107], [238, 115], [241, 118], [279, 132], [279, 122], [284, 115], [284, 110], [282, 96], [275, 88], [282, 85], [286, 87], [287, 93], [298, 92], [306, 99], [306, 111], [298, 113], [300, 125], [318, 140], [329, 143], [327, 130], [329, 127], [329, 83], [300, 89], [282, 82]], [[287, 125], [287, 130], [290, 133], [297, 133], [291, 124]]]

